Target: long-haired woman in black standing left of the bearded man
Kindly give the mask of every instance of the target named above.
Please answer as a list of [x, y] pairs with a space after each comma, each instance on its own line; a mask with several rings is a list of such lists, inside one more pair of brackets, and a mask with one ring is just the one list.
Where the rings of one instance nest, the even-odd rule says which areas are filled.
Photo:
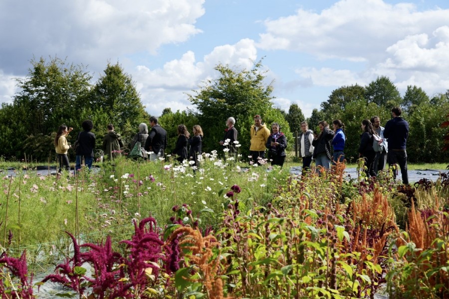
[[368, 177], [377, 176], [374, 172], [374, 158], [376, 152], [373, 149], [373, 135], [377, 134], [370, 120], [365, 119], [362, 121], [362, 135], [360, 136], [359, 157], [363, 157], [365, 160], [365, 173]]

